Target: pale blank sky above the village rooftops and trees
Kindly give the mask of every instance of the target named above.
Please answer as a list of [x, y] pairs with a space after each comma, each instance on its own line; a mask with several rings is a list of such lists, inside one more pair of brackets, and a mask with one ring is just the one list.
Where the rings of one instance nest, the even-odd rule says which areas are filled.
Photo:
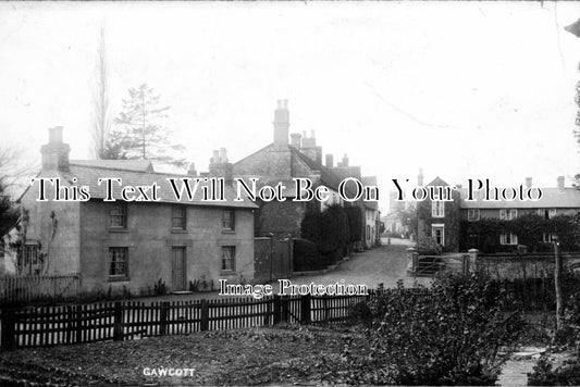
[[272, 142], [287, 99], [291, 133], [377, 175], [383, 210], [419, 168], [554, 187], [580, 172], [578, 17], [579, 2], [0, 2], [0, 136], [39, 161], [60, 125], [89, 158], [104, 26], [112, 116], [147, 83], [199, 171], [213, 149], [236, 162]]

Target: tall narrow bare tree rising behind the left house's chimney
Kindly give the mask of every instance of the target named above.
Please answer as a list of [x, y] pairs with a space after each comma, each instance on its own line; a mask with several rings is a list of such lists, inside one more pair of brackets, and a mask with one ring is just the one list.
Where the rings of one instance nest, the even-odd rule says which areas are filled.
[[111, 129], [109, 107], [109, 74], [107, 68], [104, 25], [101, 26], [97, 57], [97, 77], [94, 95], [95, 120], [91, 129], [91, 153], [95, 159], [106, 158], [107, 136]]

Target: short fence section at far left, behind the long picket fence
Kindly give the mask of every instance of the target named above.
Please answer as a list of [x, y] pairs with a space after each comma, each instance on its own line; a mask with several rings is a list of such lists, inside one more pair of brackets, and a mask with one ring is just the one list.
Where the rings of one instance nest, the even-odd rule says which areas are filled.
[[74, 299], [81, 274], [0, 276], [0, 304]]

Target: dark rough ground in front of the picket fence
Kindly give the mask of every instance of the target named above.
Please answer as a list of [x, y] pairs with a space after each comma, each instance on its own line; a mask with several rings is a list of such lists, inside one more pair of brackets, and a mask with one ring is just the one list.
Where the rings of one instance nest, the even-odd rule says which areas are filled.
[[[321, 362], [365, 352], [350, 328], [280, 326], [195, 333], [0, 353], [0, 385], [320, 385]], [[146, 376], [145, 369], [193, 369]], [[147, 370], [149, 371], [149, 370]]]

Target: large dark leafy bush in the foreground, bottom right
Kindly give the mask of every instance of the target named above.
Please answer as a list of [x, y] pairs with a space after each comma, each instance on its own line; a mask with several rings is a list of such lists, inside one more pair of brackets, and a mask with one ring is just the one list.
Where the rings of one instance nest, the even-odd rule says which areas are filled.
[[478, 274], [446, 275], [429, 290], [399, 283], [381, 294], [370, 304], [368, 340], [383, 376], [366, 383], [493, 385], [506, 360], [498, 350], [516, 342], [523, 323], [502, 311], [489, 284]]

